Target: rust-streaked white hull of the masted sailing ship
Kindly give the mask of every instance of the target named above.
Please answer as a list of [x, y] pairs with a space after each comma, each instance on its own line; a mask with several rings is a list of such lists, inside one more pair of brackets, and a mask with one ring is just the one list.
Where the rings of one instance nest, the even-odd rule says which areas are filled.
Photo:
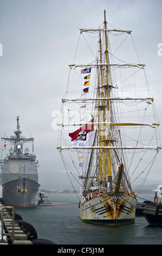
[[122, 225], [135, 221], [137, 199], [129, 193], [118, 198], [106, 194], [98, 195], [81, 204], [80, 218], [83, 222], [101, 225]]

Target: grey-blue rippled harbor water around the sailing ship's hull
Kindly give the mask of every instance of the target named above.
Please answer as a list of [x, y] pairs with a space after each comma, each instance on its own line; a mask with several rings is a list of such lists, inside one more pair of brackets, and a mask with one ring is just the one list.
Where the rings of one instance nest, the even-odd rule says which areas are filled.
[[[76, 194], [45, 194], [50, 206], [15, 208], [15, 212], [37, 231], [38, 239], [56, 245], [161, 245], [162, 227], [137, 216], [134, 224], [108, 227], [83, 223]], [[154, 194], [140, 194], [138, 202], [152, 200]], [[38, 198], [37, 198], [38, 199]], [[76, 203], [76, 204], [74, 204]]]

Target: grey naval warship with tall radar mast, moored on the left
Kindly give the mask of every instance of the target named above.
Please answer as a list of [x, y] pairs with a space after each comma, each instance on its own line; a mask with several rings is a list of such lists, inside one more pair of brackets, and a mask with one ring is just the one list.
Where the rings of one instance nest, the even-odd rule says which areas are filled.
[[[1, 186], [2, 198], [5, 204], [13, 206], [29, 206], [35, 204], [35, 196], [38, 192], [38, 160], [34, 154], [34, 138], [25, 138], [20, 130], [19, 117], [15, 135], [2, 137], [5, 144], [10, 142], [12, 147], [4, 160], [1, 160]], [[30, 153], [24, 148], [25, 143], [32, 143]]]

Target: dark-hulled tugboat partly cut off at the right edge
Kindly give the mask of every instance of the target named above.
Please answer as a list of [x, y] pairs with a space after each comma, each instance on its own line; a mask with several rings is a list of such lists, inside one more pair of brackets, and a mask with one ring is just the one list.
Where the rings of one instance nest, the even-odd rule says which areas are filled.
[[143, 214], [146, 221], [152, 225], [162, 224], [162, 185], [158, 185], [155, 191], [154, 202], [144, 207]]

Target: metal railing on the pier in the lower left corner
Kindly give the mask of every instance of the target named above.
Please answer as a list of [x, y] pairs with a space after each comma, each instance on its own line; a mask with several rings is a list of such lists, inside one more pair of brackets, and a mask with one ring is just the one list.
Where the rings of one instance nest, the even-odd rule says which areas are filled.
[[[4, 233], [4, 221], [5, 221], [5, 218], [6, 217], [6, 211], [7, 209], [10, 209], [12, 210], [12, 216], [11, 216], [11, 219], [7, 219], [9, 220], [11, 223], [12, 223], [12, 231], [11, 233], [9, 233], [9, 235], [11, 236], [11, 241], [12, 241], [12, 245], [14, 245], [14, 224], [15, 224], [15, 214], [14, 214], [14, 207], [12, 206], [2, 206], [2, 212], [1, 212], [1, 222], [2, 222], [2, 230], [1, 230], [1, 240], [2, 242], [4, 241], [3, 240], [3, 237], [4, 236], [7, 236], [7, 233]], [[4, 212], [5, 210], [5, 212]]]

